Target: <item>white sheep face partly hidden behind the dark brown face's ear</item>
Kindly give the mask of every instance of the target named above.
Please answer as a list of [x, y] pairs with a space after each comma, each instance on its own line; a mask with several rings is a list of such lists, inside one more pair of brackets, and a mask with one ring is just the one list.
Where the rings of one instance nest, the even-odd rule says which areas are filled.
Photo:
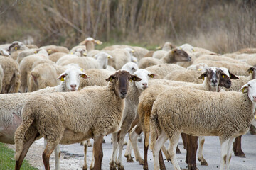
[[146, 69], [138, 69], [136, 72], [134, 72], [134, 75], [136, 75], [137, 77], [140, 77], [142, 79], [141, 81], [135, 82], [135, 86], [137, 86], [137, 88], [140, 91], [143, 91], [144, 89], [146, 89], [148, 87], [149, 78], [156, 77], [156, 74], [152, 74], [149, 71], [147, 71]]

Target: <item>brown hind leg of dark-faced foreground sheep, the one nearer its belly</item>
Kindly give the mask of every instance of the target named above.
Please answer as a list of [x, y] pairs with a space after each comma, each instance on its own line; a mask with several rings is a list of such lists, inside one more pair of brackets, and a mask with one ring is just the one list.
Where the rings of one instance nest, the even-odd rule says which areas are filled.
[[58, 143], [54, 141], [48, 141], [46, 148], [43, 151], [43, 164], [45, 166], [46, 170], [50, 170], [50, 164], [49, 164], [49, 159], [50, 159], [50, 154], [53, 153], [55, 147], [57, 147]]

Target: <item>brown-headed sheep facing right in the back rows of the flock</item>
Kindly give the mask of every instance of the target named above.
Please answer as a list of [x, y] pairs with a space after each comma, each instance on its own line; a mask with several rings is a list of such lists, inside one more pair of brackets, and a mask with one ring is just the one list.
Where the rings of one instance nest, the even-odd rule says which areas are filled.
[[174, 62], [181, 62], [187, 61], [189, 62], [191, 57], [183, 50], [174, 49], [169, 51], [164, 57], [160, 60], [153, 58], [153, 57], [144, 57], [142, 60], [139, 60], [139, 68], [145, 69], [146, 67], [156, 65], [156, 64], [163, 64], [163, 63], [174, 63]]

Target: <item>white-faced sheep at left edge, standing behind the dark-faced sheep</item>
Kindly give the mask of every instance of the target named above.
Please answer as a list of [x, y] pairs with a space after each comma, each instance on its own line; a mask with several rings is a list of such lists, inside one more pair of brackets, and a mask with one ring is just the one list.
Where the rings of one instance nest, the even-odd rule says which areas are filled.
[[[78, 67], [69, 67], [58, 79], [61, 84], [54, 87], [48, 87], [39, 91], [25, 94], [2, 94], [0, 96], [0, 142], [14, 144], [14, 132], [18, 125], [21, 124], [21, 110], [31, 96], [38, 94], [53, 93], [57, 91], [75, 91], [78, 90], [79, 77], [83, 79], [89, 78], [87, 74], [82, 72]], [[45, 142], [46, 144], [46, 142]], [[59, 167], [60, 147], [55, 148], [55, 169]]]

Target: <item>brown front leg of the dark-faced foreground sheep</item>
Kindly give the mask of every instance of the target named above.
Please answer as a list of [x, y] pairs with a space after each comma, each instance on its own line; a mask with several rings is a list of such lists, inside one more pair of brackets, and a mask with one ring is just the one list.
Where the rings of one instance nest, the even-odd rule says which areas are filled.
[[103, 151], [102, 151], [102, 141], [103, 141], [103, 135], [99, 135], [97, 137], [94, 137], [95, 142], [93, 143], [93, 148], [95, 149], [95, 166], [94, 170], [100, 170], [102, 169], [102, 157], [103, 157]]

